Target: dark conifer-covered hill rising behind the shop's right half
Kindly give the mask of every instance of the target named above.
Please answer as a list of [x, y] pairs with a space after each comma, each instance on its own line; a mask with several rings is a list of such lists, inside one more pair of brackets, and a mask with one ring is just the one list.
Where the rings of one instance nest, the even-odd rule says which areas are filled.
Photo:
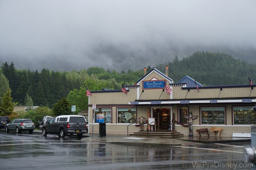
[[256, 65], [250, 64], [223, 53], [195, 52], [187, 58], [159, 64], [158, 70], [165, 73], [165, 65], [169, 70], [169, 77], [178, 82], [184, 76], [195, 78], [206, 86], [248, 84], [248, 75], [256, 82]]

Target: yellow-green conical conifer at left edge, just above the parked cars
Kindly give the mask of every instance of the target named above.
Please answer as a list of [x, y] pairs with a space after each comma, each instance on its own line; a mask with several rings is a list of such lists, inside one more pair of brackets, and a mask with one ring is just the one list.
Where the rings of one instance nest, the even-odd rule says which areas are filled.
[[10, 116], [13, 113], [16, 104], [17, 103], [12, 103], [11, 89], [8, 88], [3, 97], [1, 97], [0, 116]]

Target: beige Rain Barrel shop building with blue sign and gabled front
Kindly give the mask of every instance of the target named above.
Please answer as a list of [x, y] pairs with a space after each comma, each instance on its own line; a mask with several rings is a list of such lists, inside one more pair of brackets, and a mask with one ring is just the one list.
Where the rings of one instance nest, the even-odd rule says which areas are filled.
[[[171, 89], [170, 95], [166, 93], [165, 85]], [[184, 125], [188, 125], [185, 115], [189, 113], [197, 116], [192, 120], [194, 135], [196, 129], [213, 126], [223, 128], [221, 136], [226, 137], [233, 133], [250, 133], [250, 126], [256, 124], [254, 85], [203, 86], [198, 82], [197, 85], [199, 89], [188, 76], [179, 83], [173, 83], [168, 75], [152, 69], [135, 85], [124, 86], [128, 94], [111, 89], [91, 91], [89, 133], [92, 133], [92, 126], [94, 133], [98, 133], [100, 122], [106, 123], [107, 134], [127, 134], [127, 126], [132, 123], [128, 127], [129, 133], [138, 132], [140, 117], [147, 120], [149, 115], [154, 118], [157, 131], [170, 130], [174, 119], [179, 122], [175, 123], [175, 130], [188, 135], [189, 127]], [[147, 127], [145, 123], [143, 130]]]

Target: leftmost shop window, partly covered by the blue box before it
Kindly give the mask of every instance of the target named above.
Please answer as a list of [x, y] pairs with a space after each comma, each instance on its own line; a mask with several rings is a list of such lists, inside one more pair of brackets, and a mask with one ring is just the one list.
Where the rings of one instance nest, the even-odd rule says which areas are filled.
[[97, 108], [94, 123], [111, 123], [111, 108]]

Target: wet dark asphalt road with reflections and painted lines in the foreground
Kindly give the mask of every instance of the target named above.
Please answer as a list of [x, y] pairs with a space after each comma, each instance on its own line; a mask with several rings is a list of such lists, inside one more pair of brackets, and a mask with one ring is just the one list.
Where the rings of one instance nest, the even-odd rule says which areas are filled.
[[[251, 169], [243, 161], [250, 143], [181, 147], [86, 143], [81, 138], [0, 132], [1, 169]], [[236, 165], [236, 166], [235, 166]]]

